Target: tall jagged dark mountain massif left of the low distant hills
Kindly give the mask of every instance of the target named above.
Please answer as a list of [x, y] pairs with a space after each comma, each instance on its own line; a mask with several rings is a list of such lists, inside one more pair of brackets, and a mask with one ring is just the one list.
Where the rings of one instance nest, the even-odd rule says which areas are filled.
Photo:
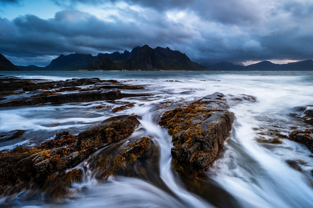
[[60, 55], [45, 67], [18, 66], [22, 70], [206, 70], [188, 56], [170, 48], [148, 45], [135, 47], [131, 52]]

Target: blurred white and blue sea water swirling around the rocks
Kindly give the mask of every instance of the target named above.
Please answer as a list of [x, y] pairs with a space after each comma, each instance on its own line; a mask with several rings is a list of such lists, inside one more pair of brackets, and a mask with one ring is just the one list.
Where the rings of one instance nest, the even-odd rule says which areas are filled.
[[[67, 201], [47, 202], [38, 197], [25, 198], [23, 191], [10, 200], [12, 207], [223, 207], [210, 196], [188, 191], [172, 170], [171, 136], [158, 125], [162, 113], [208, 94], [225, 95], [234, 112], [231, 135], [219, 159], [207, 172], [208, 178], [232, 196], [219, 196], [231, 207], [313, 207], [312, 152], [287, 139], [271, 143], [276, 136], [310, 127], [290, 116], [299, 106], [313, 106], [313, 72], [304, 71], [20, 71], [0, 72], [29, 79], [66, 80], [98, 77], [118, 80], [145, 89], [121, 90], [122, 93], [151, 93], [148, 97], [128, 97], [110, 101], [42, 104], [0, 108], [0, 132], [27, 130], [25, 140], [0, 143], [0, 149], [34, 145], [55, 133], [73, 134], [115, 115], [137, 114], [141, 124], [131, 137], [150, 137], [160, 148], [159, 173], [162, 186], [153, 181], [131, 177], [111, 177], [107, 181], [86, 177], [73, 184], [75, 194]], [[251, 95], [256, 102], [233, 100], [233, 96]], [[134, 103], [133, 108], [113, 113], [111, 109]], [[96, 109], [96, 106], [110, 106]], [[300, 112], [301, 113], [301, 112]], [[260, 142], [263, 141], [263, 142]], [[295, 161], [291, 167], [288, 161]], [[82, 163], [83, 164], [83, 163]], [[78, 165], [81, 166], [82, 164]], [[0, 206], [5, 206], [5, 199]]]

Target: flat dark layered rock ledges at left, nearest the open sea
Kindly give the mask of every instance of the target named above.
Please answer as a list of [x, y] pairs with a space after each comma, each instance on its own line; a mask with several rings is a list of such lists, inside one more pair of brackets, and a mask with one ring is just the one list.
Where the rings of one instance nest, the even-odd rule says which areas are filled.
[[[36, 80], [38, 82], [38, 80]], [[86, 87], [88, 85], [88, 87]], [[7, 90], [18, 90], [9, 92]], [[115, 100], [124, 97], [149, 96], [151, 94], [125, 94], [119, 89], [143, 89], [142, 86], [129, 86], [116, 80], [71, 79], [65, 81], [39, 82], [23, 80], [16, 77], [0, 77], [0, 97], [23, 93], [21, 98], [14, 96], [3, 98], [0, 107], [37, 105], [37, 104], [64, 104], [76, 102], [91, 102], [97, 100]], [[71, 93], [68, 93], [71, 91]], [[63, 93], [67, 92], [67, 93]], [[28, 96], [27, 96], [28, 95]]]

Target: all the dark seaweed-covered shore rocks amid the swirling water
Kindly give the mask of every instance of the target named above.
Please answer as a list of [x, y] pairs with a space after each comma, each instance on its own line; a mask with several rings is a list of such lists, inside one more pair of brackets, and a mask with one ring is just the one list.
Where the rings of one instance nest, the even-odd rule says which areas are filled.
[[[121, 93], [122, 89], [144, 87], [98, 78], [45, 82], [0, 77], [0, 107], [113, 101], [152, 95]], [[235, 115], [228, 111], [227, 100], [241, 102], [243, 99], [256, 102], [253, 96], [226, 98], [216, 92], [162, 114], [159, 125], [168, 128], [172, 135], [173, 167], [187, 178], [189, 182], [186, 184], [196, 183], [199, 176], [205, 177], [230, 135]], [[131, 103], [126, 104], [112, 109], [112, 112], [131, 106]], [[296, 112], [292, 116], [312, 124], [311, 110]], [[33, 148], [18, 147], [0, 152], [0, 196], [12, 196], [23, 189], [39, 189], [52, 198], [66, 197], [72, 182], [82, 181], [85, 177], [86, 164], [94, 177], [101, 180], [114, 175], [145, 178], [146, 171], [158, 172], [159, 148], [153, 138], [138, 137], [125, 142], [139, 125], [136, 115], [113, 116], [78, 135], [64, 131]], [[1, 133], [0, 142], [19, 138], [24, 131]], [[306, 129], [280, 137], [313, 148], [312, 133], [312, 129]], [[96, 151], [97, 154], [93, 154]], [[77, 167], [83, 161], [86, 164]]]

